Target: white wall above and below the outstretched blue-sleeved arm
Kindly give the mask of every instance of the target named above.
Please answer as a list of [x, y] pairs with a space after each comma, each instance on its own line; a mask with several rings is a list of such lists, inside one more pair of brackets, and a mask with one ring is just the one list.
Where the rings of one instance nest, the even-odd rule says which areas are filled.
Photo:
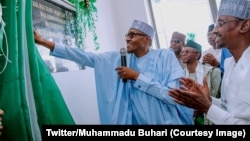
[[[96, 2], [98, 21], [96, 33], [100, 49], [105, 52], [126, 47], [127, 33], [134, 19], [148, 21], [147, 0], [99, 0]], [[112, 60], [110, 60], [112, 61]], [[99, 124], [95, 78], [92, 68], [80, 71], [53, 73], [65, 101], [77, 124]]]

